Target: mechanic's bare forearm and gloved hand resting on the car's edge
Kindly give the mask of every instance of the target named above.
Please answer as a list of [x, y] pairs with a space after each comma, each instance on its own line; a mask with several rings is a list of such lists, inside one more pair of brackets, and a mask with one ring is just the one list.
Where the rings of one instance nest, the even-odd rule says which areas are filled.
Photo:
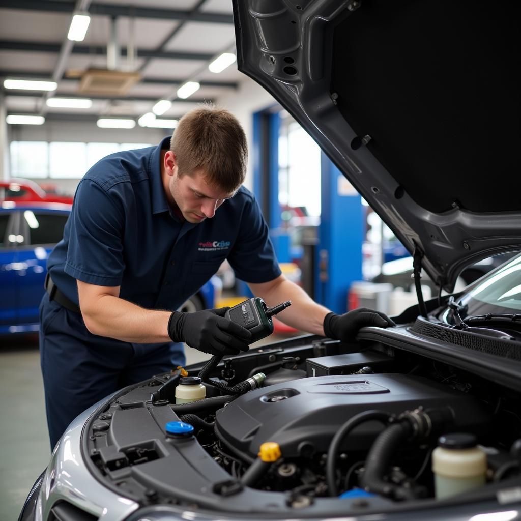
[[353, 309], [343, 315], [332, 313], [283, 275], [269, 282], [248, 285], [270, 307], [291, 300], [291, 306], [284, 309], [277, 318], [301, 331], [348, 342], [354, 340], [358, 330], [364, 326], [394, 326], [394, 322], [383, 313], [365, 307]]

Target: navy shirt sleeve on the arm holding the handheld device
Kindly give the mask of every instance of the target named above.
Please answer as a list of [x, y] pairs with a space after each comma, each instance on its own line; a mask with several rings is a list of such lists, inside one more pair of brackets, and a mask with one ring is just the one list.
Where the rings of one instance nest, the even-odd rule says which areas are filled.
[[125, 213], [92, 179], [78, 185], [69, 218], [65, 272], [96, 286], [120, 286], [125, 270], [122, 230]]

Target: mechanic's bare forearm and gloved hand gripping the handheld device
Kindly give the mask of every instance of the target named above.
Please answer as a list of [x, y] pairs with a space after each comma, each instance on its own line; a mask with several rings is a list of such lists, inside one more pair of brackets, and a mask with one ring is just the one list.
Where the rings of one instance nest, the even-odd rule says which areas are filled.
[[195, 313], [144, 309], [119, 297], [118, 287], [77, 280], [81, 315], [93, 334], [123, 342], [185, 342], [210, 354], [247, 351], [251, 333], [224, 318], [228, 307]]

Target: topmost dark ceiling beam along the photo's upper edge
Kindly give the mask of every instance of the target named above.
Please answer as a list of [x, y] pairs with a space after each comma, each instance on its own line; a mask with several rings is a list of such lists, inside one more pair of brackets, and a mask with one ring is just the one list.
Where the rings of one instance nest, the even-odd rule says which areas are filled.
[[[75, 2], [57, 0], [0, 0], [0, 8], [46, 11], [47, 13], [72, 13]], [[91, 15], [128, 16], [157, 20], [180, 20], [187, 22], [233, 23], [233, 16], [223, 13], [201, 13], [156, 7], [127, 6], [123, 4], [96, 4], [89, 7]]]

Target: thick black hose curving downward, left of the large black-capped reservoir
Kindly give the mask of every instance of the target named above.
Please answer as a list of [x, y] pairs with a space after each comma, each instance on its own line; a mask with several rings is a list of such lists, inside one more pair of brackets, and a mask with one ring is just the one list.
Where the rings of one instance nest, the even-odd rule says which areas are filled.
[[384, 481], [383, 476], [389, 468], [395, 450], [411, 436], [411, 432], [411, 424], [408, 421], [402, 421], [387, 427], [378, 435], [367, 454], [365, 470], [361, 479], [362, 488], [386, 497], [396, 497], [398, 490], [402, 492], [400, 499], [410, 495], [403, 487]]

